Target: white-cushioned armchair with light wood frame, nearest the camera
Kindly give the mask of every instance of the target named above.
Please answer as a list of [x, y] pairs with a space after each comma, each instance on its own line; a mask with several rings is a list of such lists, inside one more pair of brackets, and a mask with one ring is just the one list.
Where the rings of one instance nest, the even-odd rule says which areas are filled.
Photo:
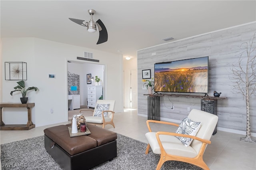
[[[201, 127], [196, 136], [177, 134], [173, 132], [152, 132], [150, 123], [174, 125], [177, 126], [177, 128], [179, 125], [163, 121], [147, 121], [149, 132], [145, 134], [148, 140], [146, 154], [148, 154], [149, 148], [151, 147], [154, 154], [161, 155], [156, 170], [160, 170], [162, 164], [168, 160], [187, 162], [205, 170], [209, 170], [209, 167], [203, 160], [203, 154], [207, 144], [211, 143], [210, 138], [217, 125], [218, 116], [197, 109], [192, 109], [188, 118], [192, 121], [201, 122]], [[175, 136], [193, 138], [193, 141], [190, 146], [186, 147]]]

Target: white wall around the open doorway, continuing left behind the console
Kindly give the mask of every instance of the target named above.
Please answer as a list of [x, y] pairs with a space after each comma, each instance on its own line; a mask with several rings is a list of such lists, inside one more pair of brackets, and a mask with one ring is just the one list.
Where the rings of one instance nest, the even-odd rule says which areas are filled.
[[[28, 102], [35, 103], [32, 122], [39, 127], [68, 121], [67, 61], [81, 61], [76, 57], [83, 57], [84, 51], [94, 53], [94, 59], [106, 65], [105, 97], [116, 100], [116, 112], [123, 111], [122, 56], [38, 38], [2, 38], [1, 102], [20, 103], [19, 93], [10, 95], [17, 85], [16, 81], [4, 80], [4, 62], [24, 61], [28, 67], [26, 87], [36, 86], [40, 89], [38, 93], [28, 93]], [[56, 74], [56, 79], [49, 79], [49, 73]], [[54, 113], [50, 113], [50, 109]], [[5, 124], [26, 124], [26, 109], [4, 108], [3, 121]]]

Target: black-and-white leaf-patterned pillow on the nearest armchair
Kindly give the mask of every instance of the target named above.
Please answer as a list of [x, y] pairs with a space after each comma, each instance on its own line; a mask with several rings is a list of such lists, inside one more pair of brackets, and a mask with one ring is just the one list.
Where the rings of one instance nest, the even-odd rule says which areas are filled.
[[[196, 133], [198, 132], [200, 126], [201, 126], [201, 122], [194, 122], [190, 120], [188, 117], [186, 117], [180, 123], [178, 129], [176, 130], [176, 133], [196, 136]], [[176, 136], [176, 138], [178, 138], [187, 147], [191, 144], [193, 140], [192, 138], [187, 138], [182, 136]]]

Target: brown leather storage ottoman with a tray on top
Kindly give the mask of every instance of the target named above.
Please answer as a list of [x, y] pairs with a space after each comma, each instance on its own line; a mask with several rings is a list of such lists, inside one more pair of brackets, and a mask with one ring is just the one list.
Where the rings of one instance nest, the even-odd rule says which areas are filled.
[[70, 137], [70, 124], [44, 129], [44, 148], [64, 170], [87, 170], [117, 156], [116, 133], [86, 125], [91, 134], [76, 137]]

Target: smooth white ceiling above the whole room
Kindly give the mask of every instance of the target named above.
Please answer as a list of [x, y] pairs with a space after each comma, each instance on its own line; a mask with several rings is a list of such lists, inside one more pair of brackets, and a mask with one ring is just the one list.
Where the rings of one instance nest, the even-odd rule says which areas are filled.
[[[137, 50], [256, 21], [256, 1], [250, 0], [1, 0], [1, 37], [36, 37], [124, 56]], [[68, 18], [102, 20], [108, 41], [96, 45], [98, 31]], [[169, 42], [171, 42], [169, 41]]]

